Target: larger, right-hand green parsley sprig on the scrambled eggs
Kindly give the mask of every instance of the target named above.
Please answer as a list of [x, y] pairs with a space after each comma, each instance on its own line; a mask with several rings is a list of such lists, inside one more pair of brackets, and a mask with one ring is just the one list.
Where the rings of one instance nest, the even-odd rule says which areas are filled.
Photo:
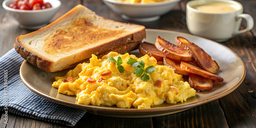
[[[131, 65], [133, 68], [135, 68], [135, 70], [133, 71], [134, 74], [136, 74], [137, 77], [140, 77], [143, 73], [143, 75], [141, 76], [141, 79], [143, 81], [147, 81], [148, 79], [150, 79], [150, 76], [148, 76], [147, 74], [151, 74], [153, 72], [155, 72], [155, 70], [157, 69], [155, 66], [148, 66], [146, 68], [146, 70], [144, 70], [144, 67], [145, 67], [145, 63], [140, 60], [140, 61], [137, 61], [136, 59], [134, 58], [130, 58], [128, 61], [127, 61], [127, 64], [128, 65]], [[147, 73], [147, 74], [146, 74]]]

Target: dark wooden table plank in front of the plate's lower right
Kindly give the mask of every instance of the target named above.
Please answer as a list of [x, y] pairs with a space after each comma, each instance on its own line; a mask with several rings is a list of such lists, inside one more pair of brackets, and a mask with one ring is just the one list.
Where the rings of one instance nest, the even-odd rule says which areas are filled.
[[[210, 116], [209, 116], [210, 115]], [[153, 118], [154, 127], [227, 127], [218, 100], [177, 114]], [[218, 123], [216, 123], [218, 122]]]

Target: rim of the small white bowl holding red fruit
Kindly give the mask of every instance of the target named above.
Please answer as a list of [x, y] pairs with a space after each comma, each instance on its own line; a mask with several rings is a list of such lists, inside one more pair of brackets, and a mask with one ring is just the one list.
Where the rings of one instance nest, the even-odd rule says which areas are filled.
[[[59, 0], [49, 0], [50, 2], [57, 2], [57, 6], [53, 6], [52, 8], [47, 8], [47, 9], [41, 9], [41, 10], [19, 10], [19, 9], [13, 9], [8, 7], [8, 5], [6, 5], [9, 1], [13, 1], [13, 0], [5, 0], [2, 4], [2, 6], [4, 7], [4, 9], [9, 10], [9, 11], [14, 11], [14, 12], [26, 12], [26, 13], [33, 13], [33, 12], [45, 12], [45, 11], [50, 11], [56, 8], [59, 8], [61, 5], [61, 2]], [[48, 1], [47, 1], [48, 2]]]

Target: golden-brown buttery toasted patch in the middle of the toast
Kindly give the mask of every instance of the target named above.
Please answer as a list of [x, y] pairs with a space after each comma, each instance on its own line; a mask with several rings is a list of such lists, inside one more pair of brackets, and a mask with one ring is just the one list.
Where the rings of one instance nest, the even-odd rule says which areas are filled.
[[48, 55], [68, 53], [118, 36], [123, 32], [124, 30], [99, 28], [87, 18], [80, 17], [75, 19], [68, 28], [56, 30], [56, 33], [46, 40], [44, 49]]

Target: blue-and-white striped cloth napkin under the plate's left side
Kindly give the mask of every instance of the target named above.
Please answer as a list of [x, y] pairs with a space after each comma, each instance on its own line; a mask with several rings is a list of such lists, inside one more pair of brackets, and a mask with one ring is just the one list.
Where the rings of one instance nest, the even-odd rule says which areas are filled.
[[86, 111], [49, 101], [30, 91], [19, 76], [23, 61], [14, 48], [0, 58], [0, 111], [74, 126]]

